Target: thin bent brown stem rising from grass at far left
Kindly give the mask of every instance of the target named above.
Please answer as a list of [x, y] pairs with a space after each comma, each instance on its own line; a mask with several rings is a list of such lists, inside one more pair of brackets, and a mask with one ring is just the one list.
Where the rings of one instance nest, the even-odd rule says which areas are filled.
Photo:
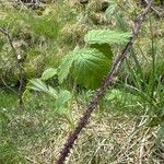
[[19, 55], [17, 55], [17, 52], [16, 52], [16, 49], [15, 49], [15, 47], [14, 47], [14, 45], [13, 45], [13, 40], [12, 40], [10, 34], [8, 33], [8, 31], [4, 30], [3, 27], [0, 27], [0, 32], [1, 32], [3, 35], [7, 36], [8, 42], [9, 42], [9, 44], [10, 44], [11, 48], [12, 48], [14, 59], [15, 59], [15, 61], [16, 61], [16, 67], [17, 67], [19, 71], [20, 71], [20, 79], [19, 79], [19, 80], [20, 80], [20, 86], [19, 86], [19, 93], [17, 93], [17, 95], [19, 95], [19, 104], [20, 104], [20, 106], [21, 106], [21, 105], [23, 104], [23, 101], [22, 101], [22, 89], [23, 89], [23, 80], [24, 80], [23, 66], [22, 66], [22, 62], [21, 62], [21, 61], [19, 60], [19, 58], [17, 58]]

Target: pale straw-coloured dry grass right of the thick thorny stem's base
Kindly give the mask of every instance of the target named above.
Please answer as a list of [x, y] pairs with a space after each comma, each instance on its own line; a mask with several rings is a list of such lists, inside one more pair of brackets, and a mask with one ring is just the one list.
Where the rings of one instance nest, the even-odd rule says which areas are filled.
[[74, 147], [69, 164], [164, 162], [163, 153], [160, 152], [162, 143], [161, 148], [157, 145], [159, 127], [147, 127], [141, 121], [138, 122], [137, 117], [105, 115], [92, 118]]

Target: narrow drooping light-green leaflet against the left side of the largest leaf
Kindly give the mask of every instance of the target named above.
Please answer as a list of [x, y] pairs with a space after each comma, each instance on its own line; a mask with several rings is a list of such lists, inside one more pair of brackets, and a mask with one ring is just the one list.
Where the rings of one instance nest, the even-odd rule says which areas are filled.
[[67, 79], [70, 69], [72, 67], [73, 60], [74, 60], [74, 51], [69, 52], [62, 59], [62, 62], [58, 69], [58, 79], [60, 84], [63, 82], [63, 80]]

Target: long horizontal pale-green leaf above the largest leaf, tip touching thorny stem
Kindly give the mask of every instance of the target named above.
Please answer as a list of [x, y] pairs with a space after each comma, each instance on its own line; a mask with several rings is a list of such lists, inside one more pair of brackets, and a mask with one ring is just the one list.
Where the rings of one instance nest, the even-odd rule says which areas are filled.
[[85, 35], [84, 40], [87, 44], [124, 44], [130, 37], [130, 33], [121, 31], [93, 30]]

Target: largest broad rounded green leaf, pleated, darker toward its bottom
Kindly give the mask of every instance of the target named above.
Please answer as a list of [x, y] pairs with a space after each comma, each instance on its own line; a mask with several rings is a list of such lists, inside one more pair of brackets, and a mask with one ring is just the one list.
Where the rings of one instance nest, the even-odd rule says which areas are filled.
[[110, 63], [112, 60], [95, 48], [80, 49], [73, 62], [74, 79], [85, 87], [96, 89], [107, 74]]

